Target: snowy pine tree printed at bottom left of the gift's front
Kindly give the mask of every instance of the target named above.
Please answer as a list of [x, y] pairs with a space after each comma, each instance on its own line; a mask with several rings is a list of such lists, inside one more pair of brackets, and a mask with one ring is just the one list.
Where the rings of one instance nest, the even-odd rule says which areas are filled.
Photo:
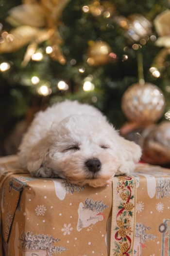
[[49, 235], [41, 235], [35, 234], [31, 232], [22, 232], [21, 236], [19, 237], [21, 249], [28, 249], [28, 250], [46, 250], [48, 249], [48, 255], [53, 256], [53, 254], [62, 253], [67, 250], [66, 247], [61, 246], [54, 246], [53, 243], [57, 243], [60, 241], [58, 238], [54, 238], [53, 236]]

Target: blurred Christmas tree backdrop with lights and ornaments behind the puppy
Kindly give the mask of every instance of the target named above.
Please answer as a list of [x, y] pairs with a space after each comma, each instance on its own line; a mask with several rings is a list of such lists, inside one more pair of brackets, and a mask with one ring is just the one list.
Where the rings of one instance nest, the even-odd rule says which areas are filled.
[[0, 156], [66, 98], [99, 108], [143, 161], [169, 167], [170, 1], [0, 0]]

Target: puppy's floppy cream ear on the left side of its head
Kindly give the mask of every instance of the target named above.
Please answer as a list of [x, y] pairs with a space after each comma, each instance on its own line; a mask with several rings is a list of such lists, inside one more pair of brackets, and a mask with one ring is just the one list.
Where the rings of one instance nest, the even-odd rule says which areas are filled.
[[50, 177], [51, 170], [46, 168], [45, 162], [49, 154], [50, 143], [45, 137], [38, 141], [28, 156], [27, 169], [35, 177]]

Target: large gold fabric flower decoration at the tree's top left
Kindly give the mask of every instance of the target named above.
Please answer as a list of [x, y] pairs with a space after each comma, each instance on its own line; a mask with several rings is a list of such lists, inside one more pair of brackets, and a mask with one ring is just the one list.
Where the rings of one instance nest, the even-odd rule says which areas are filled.
[[22, 64], [25, 66], [35, 53], [37, 45], [49, 42], [51, 58], [65, 64], [59, 45], [62, 44], [58, 27], [65, 5], [70, 0], [23, 0], [23, 4], [9, 11], [7, 21], [15, 26], [9, 33], [2, 32], [0, 53], [18, 50], [28, 44]]

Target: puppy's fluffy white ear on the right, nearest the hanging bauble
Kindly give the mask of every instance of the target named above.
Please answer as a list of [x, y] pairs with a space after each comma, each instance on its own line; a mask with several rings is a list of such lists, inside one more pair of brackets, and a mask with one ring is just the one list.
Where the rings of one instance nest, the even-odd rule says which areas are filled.
[[119, 168], [116, 175], [129, 174], [134, 171], [136, 163], [140, 160], [142, 151], [135, 142], [119, 136], [118, 138]]

